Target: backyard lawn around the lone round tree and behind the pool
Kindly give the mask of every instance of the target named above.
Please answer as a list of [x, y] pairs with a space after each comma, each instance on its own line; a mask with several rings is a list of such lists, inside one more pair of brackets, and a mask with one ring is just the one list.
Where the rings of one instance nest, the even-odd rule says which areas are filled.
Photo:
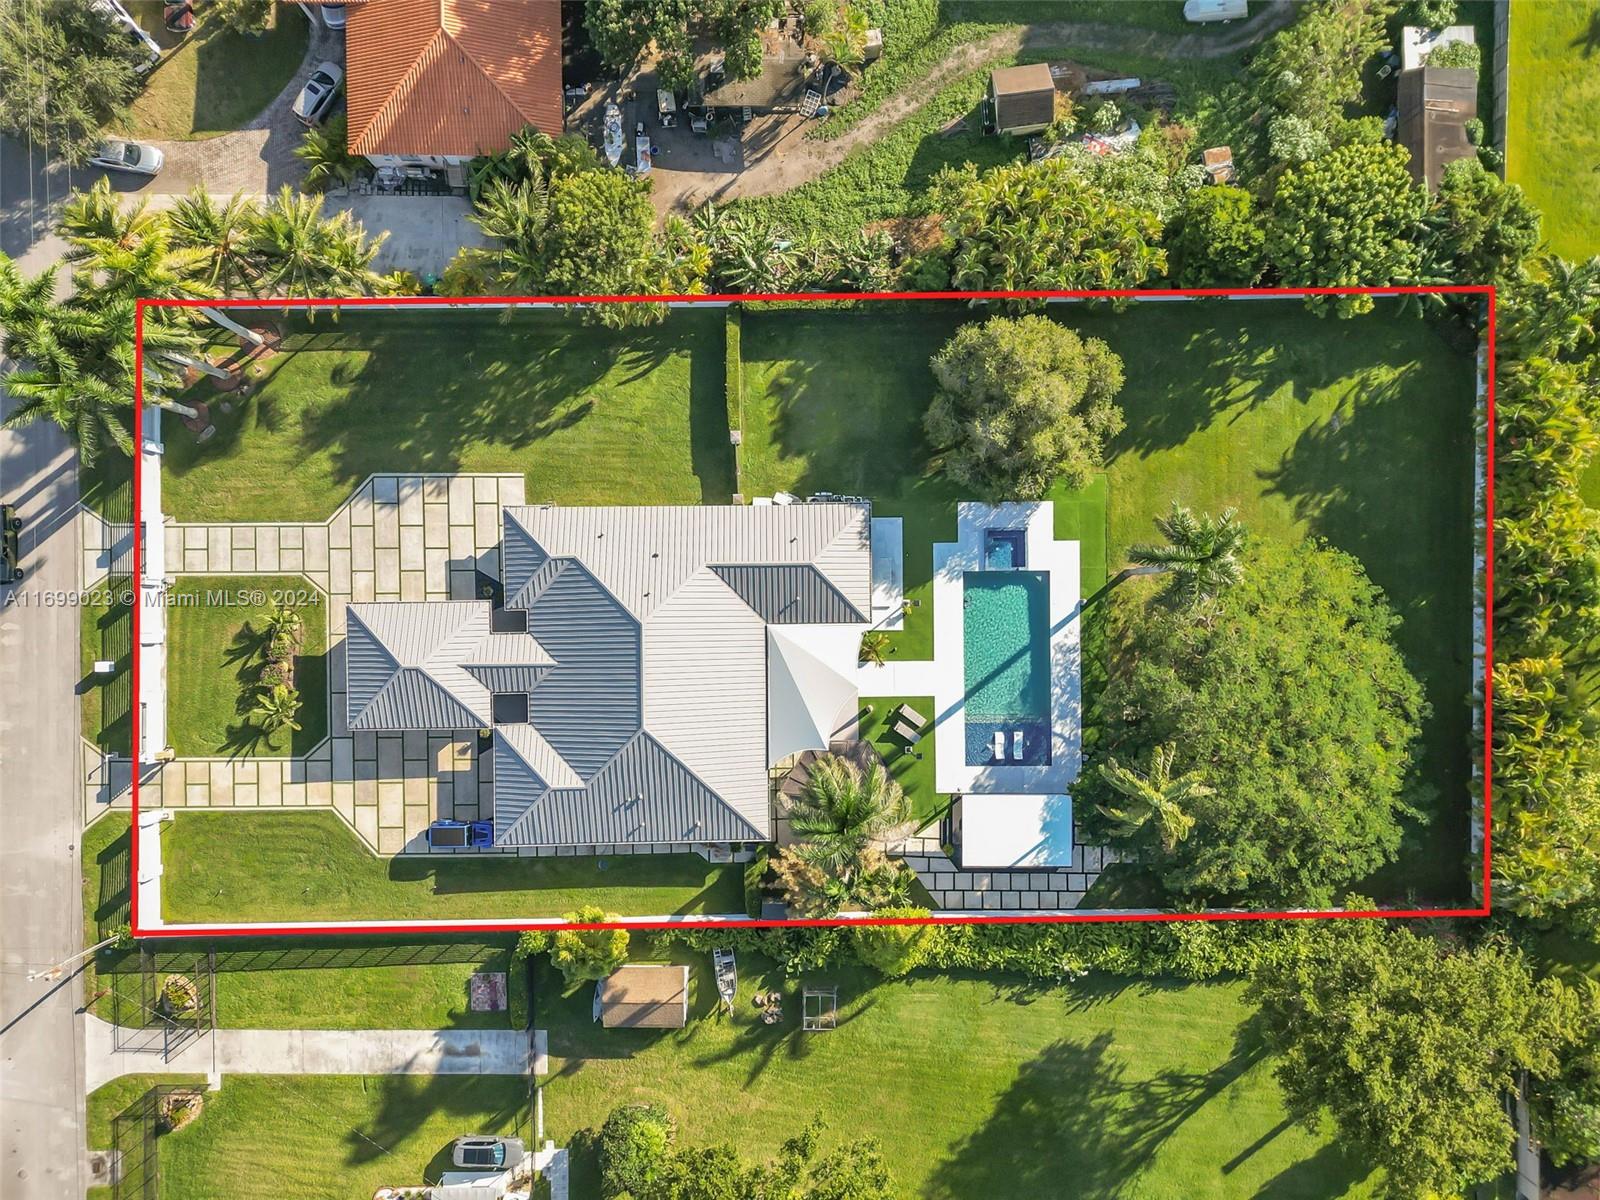
[[[1266, 538], [1326, 538], [1355, 554], [1405, 624], [1398, 640], [1434, 715], [1424, 776], [1438, 818], [1379, 898], [1464, 894], [1470, 712], [1472, 358], [1392, 307], [1318, 318], [1298, 302], [1058, 307], [1126, 368], [1128, 427], [1102, 480], [1059, 493], [1059, 536], [1083, 541], [1093, 595], [1171, 499], [1235, 506]], [[955, 533], [957, 493], [930, 466], [928, 358], [970, 309], [747, 310], [746, 490], [869, 496], [906, 518], [907, 614], [896, 653], [931, 653], [931, 542]], [[819, 352], [818, 347], [829, 347]], [[845, 350], [843, 347], [850, 347]], [[1426, 482], [1426, 486], [1419, 486]], [[1086, 622], [1090, 686], [1096, 622]]]

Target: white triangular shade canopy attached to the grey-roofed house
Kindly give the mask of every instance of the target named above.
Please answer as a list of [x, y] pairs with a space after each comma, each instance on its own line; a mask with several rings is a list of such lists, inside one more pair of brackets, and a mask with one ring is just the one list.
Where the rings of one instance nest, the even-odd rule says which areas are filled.
[[826, 750], [861, 704], [861, 626], [766, 627], [766, 760]]

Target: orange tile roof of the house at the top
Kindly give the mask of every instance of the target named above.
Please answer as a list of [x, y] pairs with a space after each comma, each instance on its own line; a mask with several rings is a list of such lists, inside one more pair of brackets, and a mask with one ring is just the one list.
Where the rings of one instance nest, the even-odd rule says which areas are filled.
[[350, 152], [378, 165], [562, 133], [557, 0], [368, 0], [349, 5], [344, 45]]

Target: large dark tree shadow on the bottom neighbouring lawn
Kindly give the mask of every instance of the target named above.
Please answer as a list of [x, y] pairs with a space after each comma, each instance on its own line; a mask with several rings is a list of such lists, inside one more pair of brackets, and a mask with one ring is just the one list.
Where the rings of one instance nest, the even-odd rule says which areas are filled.
[[925, 1195], [1056, 1197], [1128, 1194], [1162, 1146], [1266, 1050], [1250, 1022], [1210, 1070], [1130, 1078], [1110, 1032], [1051, 1043], [1018, 1070], [987, 1122], [950, 1147]]

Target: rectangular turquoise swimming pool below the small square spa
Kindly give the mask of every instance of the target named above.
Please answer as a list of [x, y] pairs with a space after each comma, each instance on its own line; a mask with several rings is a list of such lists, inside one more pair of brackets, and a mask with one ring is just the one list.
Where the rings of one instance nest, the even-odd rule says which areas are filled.
[[[966, 763], [1048, 763], [1050, 576], [1043, 571], [966, 571], [962, 582]], [[1003, 758], [995, 757], [997, 733], [1003, 739]]]

